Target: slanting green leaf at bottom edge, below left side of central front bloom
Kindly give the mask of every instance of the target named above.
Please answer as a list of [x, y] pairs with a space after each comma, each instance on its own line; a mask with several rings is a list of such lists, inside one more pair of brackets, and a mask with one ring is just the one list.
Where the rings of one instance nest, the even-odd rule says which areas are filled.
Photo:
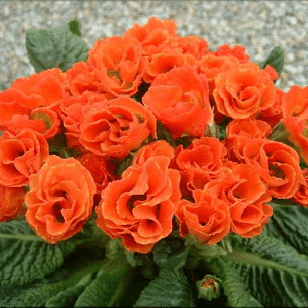
[[97, 278], [78, 297], [75, 307], [110, 307], [121, 297], [125, 289], [124, 277], [131, 267], [125, 259], [110, 260]]

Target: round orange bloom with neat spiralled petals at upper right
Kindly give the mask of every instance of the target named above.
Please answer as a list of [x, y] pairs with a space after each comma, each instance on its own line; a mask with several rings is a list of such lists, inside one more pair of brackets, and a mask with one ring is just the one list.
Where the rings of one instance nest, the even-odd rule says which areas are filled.
[[213, 97], [220, 113], [245, 119], [274, 105], [275, 85], [255, 63], [233, 66], [215, 79]]

